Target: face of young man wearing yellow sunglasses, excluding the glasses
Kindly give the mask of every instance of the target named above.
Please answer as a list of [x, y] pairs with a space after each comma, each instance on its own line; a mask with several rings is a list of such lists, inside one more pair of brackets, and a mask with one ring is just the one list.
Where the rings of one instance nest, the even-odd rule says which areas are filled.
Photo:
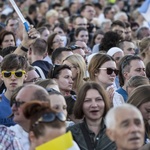
[[[7, 70], [6, 70], [7, 71]], [[13, 73], [12, 73], [13, 71]], [[4, 84], [7, 88], [7, 91], [13, 92], [17, 87], [22, 86], [24, 80], [27, 78], [27, 75], [22, 73], [21, 77], [17, 77], [17, 72], [23, 71], [22, 69], [13, 69], [11, 71], [7, 71], [6, 73], [10, 73], [10, 77], [5, 77], [5, 73], [2, 73], [2, 80], [4, 81]], [[15, 72], [15, 74], [14, 74]]]

